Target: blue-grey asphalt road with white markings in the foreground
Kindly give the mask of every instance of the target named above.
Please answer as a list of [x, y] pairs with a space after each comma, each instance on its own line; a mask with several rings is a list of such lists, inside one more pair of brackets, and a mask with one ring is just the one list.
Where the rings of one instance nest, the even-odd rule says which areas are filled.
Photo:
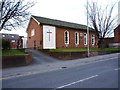
[[3, 88], [118, 88], [118, 58], [3, 80]]

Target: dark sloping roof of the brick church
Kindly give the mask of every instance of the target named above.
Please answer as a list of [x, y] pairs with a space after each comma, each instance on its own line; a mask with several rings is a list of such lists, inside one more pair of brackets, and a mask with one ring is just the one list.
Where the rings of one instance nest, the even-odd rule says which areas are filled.
[[[46, 24], [46, 25], [54, 25], [54, 26], [72, 28], [72, 29], [87, 30], [86, 25], [81, 25], [81, 24], [76, 24], [76, 23], [71, 23], [71, 22], [66, 22], [61, 20], [55, 20], [55, 19], [50, 19], [50, 18], [45, 18], [40, 16], [32, 16], [32, 17], [36, 19], [39, 23]], [[89, 30], [94, 31], [94, 29], [90, 27], [89, 27]]]

